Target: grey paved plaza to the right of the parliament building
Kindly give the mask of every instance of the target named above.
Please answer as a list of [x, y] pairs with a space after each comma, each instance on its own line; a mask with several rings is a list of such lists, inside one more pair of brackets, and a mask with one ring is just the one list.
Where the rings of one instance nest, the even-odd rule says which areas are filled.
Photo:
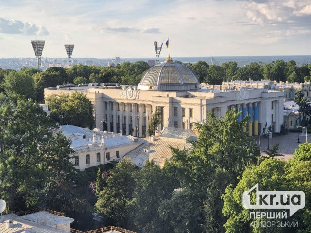
[[[299, 144], [306, 142], [306, 134], [301, 135], [299, 133], [299, 141], [298, 143], [298, 132], [289, 132], [286, 135], [274, 135], [272, 138], [269, 139], [269, 148], [271, 149], [272, 146], [276, 143], [279, 143], [279, 150], [278, 152], [284, 155], [284, 159], [291, 158], [298, 148]], [[259, 145], [259, 136], [255, 137], [258, 145]], [[308, 142], [311, 142], [311, 134], [308, 134]], [[261, 136], [261, 153], [267, 150], [268, 148], [268, 137]]]

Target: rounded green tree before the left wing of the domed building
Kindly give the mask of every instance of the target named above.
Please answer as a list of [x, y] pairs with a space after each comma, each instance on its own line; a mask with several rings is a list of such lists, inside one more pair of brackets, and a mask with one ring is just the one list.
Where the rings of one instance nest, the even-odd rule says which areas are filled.
[[51, 95], [45, 100], [52, 111], [50, 116], [56, 122], [60, 122], [60, 115], [63, 124], [89, 127], [94, 122], [93, 105], [83, 93], [75, 91], [71, 95]]

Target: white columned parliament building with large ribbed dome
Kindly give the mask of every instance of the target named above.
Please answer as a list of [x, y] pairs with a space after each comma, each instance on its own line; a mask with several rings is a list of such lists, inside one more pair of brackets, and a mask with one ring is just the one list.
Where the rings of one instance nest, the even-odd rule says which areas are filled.
[[[251, 77], [250, 77], [251, 78]], [[165, 127], [192, 129], [205, 121], [207, 111], [217, 117], [227, 110], [242, 111], [239, 120], [251, 116], [246, 131], [258, 135], [271, 126], [280, 132], [283, 124], [283, 91], [254, 86], [225, 90], [201, 86], [196, 75], [186, 66], [168, 58], [151, 67], [137, 86], [119, 84], [61, 85], [46, 88], [52, 94], [79, 91], [94, 104], [95, 126], [103, 131], [146, 137], [155, 109], [160, 109]]]

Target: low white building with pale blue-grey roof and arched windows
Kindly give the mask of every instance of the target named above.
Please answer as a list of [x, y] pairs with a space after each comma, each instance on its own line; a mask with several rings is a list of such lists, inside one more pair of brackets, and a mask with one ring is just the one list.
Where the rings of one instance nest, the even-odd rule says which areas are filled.
[[63, 125], [61, 133], [71, 140], [74, 153], [70, 160], [76, 169], [84, 171], [91, 166], [106, 164], [122, 158], [127, 152], [143, 143], [133, 136], [108, 133], [99, 129], [90, 130], [73, 125]]

